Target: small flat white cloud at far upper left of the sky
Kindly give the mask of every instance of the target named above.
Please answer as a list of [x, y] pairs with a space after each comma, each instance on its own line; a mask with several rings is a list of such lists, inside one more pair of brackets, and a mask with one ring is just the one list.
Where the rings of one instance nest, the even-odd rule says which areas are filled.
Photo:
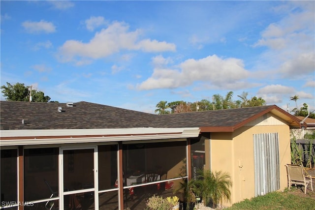
[[44, 20], [39, 22], [25, 21], [22, 23], [22, 26], [29, 33], [53, 33], [56, 31], [53, 23]]

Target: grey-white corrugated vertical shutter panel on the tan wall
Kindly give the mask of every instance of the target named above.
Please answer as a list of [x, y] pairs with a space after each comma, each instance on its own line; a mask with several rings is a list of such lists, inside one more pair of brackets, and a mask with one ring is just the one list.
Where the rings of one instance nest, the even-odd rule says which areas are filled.
[[253, 135], [255, 196], [280, 189], [278, 133]]

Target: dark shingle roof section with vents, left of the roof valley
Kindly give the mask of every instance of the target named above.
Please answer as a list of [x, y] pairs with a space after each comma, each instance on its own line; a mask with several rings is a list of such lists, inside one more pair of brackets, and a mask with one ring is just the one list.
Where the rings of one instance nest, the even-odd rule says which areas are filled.
[[[58, 107], [62, 107], [62, 112], [58, 112]], [[148, 127], [157, 117], [84, 101], [73, 107], [65, 103], [1, 101], [0, 110], [1, 130]]]

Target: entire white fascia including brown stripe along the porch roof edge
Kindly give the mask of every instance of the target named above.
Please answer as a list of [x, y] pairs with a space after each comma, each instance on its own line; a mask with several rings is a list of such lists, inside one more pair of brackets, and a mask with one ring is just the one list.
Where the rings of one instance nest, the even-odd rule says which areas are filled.
[[[1, 130], [1, 135], [0, 135], [1, 137], [11, 137], [14, 139], [2, 140], [0, 141], [0, 146], [179, 139], [179, 138], [198, 137], [199, 132], [200, 132], [199, 128]], [[103, 136], [93, 137], [93, 135], [98, 135], [98, 136], [103, 135]], [[115, 136], [110, 136], [110, 135], [115, 135]], [[43, 138], [45, 136], [47, 136], [47, 138]], [[54, 138], [54, 136], [56, 136], [56, 138]], [[73, 136], [73, 137], [60, 138], [60, 136]], [[91, 136], [91, 137], [76, 138], [75, 136]], [[34, 137], [34, 138], [21, 139], [22, 137]], [[36, 137], [41, 137], [41, 138], [36, 138]]]

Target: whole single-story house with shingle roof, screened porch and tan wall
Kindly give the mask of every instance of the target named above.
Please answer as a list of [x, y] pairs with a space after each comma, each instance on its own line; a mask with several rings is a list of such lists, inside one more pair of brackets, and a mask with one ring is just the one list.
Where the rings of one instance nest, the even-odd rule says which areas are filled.
[[233, 203], [282, 190], [290, 126], [271, 106], [153, 115], [100, 104], [0, 102], [1, 209], [143, 209], [198, 168], [229, 172]]

